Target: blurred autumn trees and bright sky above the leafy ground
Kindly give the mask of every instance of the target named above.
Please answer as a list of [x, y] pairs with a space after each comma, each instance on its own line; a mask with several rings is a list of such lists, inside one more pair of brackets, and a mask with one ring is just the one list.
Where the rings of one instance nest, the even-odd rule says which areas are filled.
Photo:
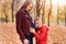
[[[25, 0], [0, 0], [0, 22], [15, 22], [15, 13]], [[38, 15], [46, 25], [66, 25], [66, 0], [31, 0], [33, 20]]]

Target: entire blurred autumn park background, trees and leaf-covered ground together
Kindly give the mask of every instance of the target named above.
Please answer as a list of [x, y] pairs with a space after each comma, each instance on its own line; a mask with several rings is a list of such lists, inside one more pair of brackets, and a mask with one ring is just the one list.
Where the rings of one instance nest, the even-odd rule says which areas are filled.
[[[0, 44], [21, 44], [15, 31], [15, 13], [25, 0], [0, 0]], [[41, 16], [51, 28], [48, 44], [66, 44], [66, 0], [31, 0], [31, 16]], [[35, 41], [34, 41], [35, 44]]]

